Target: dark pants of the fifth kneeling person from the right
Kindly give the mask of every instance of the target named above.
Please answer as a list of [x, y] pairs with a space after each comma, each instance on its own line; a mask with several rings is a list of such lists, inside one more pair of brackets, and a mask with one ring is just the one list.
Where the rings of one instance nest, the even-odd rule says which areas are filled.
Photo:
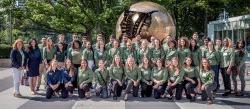
[[[150, 81], [148, 81], [150, 82]], [[151, 97], [152, 95], [152, 89], [153, 89], [153, 86], [152, 85], [148, 85], [146, 84], [145, 82], [140, 82], [141, 84], [141, 96], [144, 97]]]

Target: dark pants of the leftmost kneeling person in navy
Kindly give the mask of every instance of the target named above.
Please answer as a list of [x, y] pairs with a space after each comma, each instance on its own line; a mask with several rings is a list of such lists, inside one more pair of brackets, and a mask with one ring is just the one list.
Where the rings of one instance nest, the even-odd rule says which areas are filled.
[[68, 91], [64, 87], [64, 84], [60, 84], [57, 89], [53, 90], [49, 85], [46, 88], [46, 98], [50, 99], [54, 92], [59, 92], [61, 90], [61, 96], [62, 98], [68, 97]]

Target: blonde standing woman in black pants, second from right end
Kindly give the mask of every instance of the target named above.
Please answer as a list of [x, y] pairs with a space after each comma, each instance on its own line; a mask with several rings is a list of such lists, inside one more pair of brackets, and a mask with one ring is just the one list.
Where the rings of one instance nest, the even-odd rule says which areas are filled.
[[224, 83], [225, 93], [222, 96], [231, 94], [231, 68], [234, 65], [235, 53], [232, 48], [232, 42], [229, 38], [223, 40], [223, 47], [221, 48], [221, 75]]

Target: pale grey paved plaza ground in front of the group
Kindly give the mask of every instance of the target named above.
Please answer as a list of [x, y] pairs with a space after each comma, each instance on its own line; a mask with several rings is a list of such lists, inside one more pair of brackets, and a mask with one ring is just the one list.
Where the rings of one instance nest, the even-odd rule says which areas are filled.
[[[249, 76], [247, 78], [250, 78]], [[247, 91], [250, 91], [250, 81], [247, 81]], [[38, 95], [30, 95], [27, 86], [21, 86], [24, 98], [14, 98], [12, 96], [12, 74], [10, 69], [0, 71], [0, 106], [8, 109], [249, 109], [250, 95], [241, 98], [216, 97], [215, 104], [207, 105], [200, 101], [190, 103], [185, 98], [180, 101], [169, 101], [167, 99], [156, 100], [153, 98], [131, 98], [130, 101], [123, 101], [122, 97], [117, 101], [112, 98], [100, 99], [93, 96], [91, 99], [79, 99], [75, 94], [71, 98], [45, 99], [44, 90]], [[75, 92], [76, 93], [76, 92]]]

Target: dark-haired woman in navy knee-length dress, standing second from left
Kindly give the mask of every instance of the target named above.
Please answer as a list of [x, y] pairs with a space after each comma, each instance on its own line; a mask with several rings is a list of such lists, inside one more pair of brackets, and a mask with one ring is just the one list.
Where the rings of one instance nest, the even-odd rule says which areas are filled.
[[28, 70], [29, 86], [32, 95], [35, 95], [35, 87], [39, 76], [39, 66], [42, 62], [42, 56], [36, 39], [31, 39], [28, 47]]

